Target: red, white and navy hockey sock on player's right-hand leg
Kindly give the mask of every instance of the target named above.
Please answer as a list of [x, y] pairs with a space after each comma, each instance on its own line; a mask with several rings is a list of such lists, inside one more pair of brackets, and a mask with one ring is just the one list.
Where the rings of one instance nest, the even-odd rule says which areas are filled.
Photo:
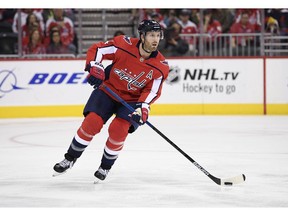
[[108, 129], [109, 137], [106, 141], [104, 153], [101, 160], [103, 169], [111, 169], [123, 148], [124, 141], [128, 135], [130, 123], [121, 118], [115, 118]]

